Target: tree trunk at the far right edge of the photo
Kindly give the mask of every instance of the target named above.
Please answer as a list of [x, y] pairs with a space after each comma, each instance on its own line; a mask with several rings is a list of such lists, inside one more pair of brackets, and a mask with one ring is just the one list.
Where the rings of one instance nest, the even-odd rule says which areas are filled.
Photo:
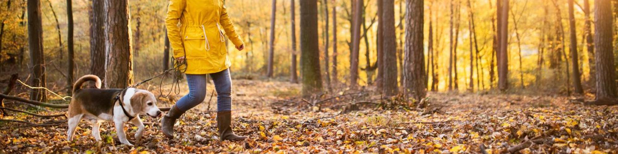
[[616, 99], [611, 1], [595, 0], [596, 100]]

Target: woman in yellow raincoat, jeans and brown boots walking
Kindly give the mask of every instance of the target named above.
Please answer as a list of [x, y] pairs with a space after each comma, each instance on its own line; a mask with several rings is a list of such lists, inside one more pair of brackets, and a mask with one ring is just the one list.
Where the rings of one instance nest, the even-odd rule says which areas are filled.
[[217, 91], [217, 127], [221, 140], [243, 140], [230, 126], [232, 121], [232, 79], [227, 68], [225, 34], [236, 49], [244, 49], [243, 41], [227, 15], [224, 0], [171, 0], [165, 19], [167, 36], [174, 49], [174, 58], [187, 62], [189, 94], [171, 107], [161, 120], [166, 137], [174, 138], [174, 124], [185, 111], [200, 104], [206, 97], [206, 75], [210, 75]]

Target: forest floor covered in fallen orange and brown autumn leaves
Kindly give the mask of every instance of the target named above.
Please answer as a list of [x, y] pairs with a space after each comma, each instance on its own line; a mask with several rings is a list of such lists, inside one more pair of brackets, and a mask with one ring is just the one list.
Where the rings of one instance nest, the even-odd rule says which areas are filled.
[[[186, 86], [181, 87], [186, 93]], [[153, 86], [148, 89], [158, 91]], [[160, 118], [146, 116], [142, 119], [150, 124], [140, 142], [132, 139], [136, 128], [125, 127], [135, 147], [119, 144], [109, 122], [101, 126], [101, 142], [91, 137], [90, 124], [84, 122], [74, 142], [66, 140], [66, 124], [35, 128], [0, 123], [0, 153], [618, 152], [618, 107], [586, 106], [571, 97], [431, 92], [429, 99], [416, 103], [399, 97], [382, 100], [370, 90], [341, 89], [300, 99], [300, 84], [244, 79], [234, 80], [232, 115], [235, 132], [249, 138], [221, 142], [216, 137], [213, 89], [209, 84], [205, 102], [177, 122], [173, 140], [159, 131]], [[170, 105], [161, 102], [159, 107]], [[54, 121], [64, 117], [12, 113], [4, 119]]]

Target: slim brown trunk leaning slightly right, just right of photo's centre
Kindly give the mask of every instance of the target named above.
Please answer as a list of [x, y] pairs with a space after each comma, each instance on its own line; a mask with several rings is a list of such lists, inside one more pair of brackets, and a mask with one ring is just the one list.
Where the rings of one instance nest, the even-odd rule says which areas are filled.
[[360, 50], [360, 25], [363, 18], [364, 0], [355, 0], [352, 24], [352, 51], [350, 52], [350, 86], [358, 85], [358, 51]]

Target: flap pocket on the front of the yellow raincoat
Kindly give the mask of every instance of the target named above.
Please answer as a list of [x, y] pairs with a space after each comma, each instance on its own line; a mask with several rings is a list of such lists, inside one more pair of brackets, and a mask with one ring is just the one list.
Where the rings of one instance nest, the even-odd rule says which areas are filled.
[[203, 59], [210, 49], [201, 28], [187, 28], [184, 36], [187, 59]]

